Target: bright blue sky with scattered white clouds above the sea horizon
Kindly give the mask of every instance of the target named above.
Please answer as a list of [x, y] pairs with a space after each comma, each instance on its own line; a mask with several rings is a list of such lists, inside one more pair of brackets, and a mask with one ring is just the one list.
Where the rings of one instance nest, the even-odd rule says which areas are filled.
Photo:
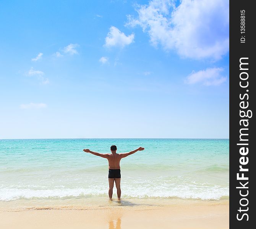
[[10, 0], [0, 20], [0, 139], [229, 138], [227, 0]]

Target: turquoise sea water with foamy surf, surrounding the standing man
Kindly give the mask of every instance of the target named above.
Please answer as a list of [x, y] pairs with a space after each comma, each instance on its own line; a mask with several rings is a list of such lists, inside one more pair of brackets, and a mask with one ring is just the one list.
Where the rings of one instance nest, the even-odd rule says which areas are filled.
[[0, 201], [108, 197], [107, 159], [83, 149], [112, 144], [145, 148], [121, 160], [122, 198], [229, 196], [228, 139], [10, 139], [0, 140]]

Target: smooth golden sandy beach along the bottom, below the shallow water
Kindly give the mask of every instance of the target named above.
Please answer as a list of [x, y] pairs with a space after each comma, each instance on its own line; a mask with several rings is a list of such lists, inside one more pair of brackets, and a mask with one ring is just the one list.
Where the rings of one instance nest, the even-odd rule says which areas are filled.
[[0, 211], [0, 227], [12, 228], [229, 228], [229, 201], [189, 201], [167, 206], [33, 207]]

